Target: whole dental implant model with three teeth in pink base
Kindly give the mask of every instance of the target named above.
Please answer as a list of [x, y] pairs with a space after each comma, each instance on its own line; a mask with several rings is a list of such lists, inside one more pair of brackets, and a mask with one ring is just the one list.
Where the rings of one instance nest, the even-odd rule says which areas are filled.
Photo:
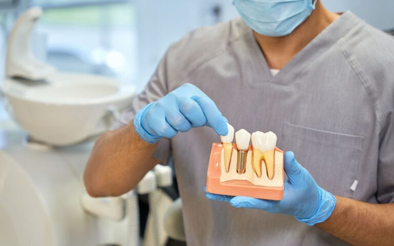
[[[221, 143], [213, 143], [209, 158], [206, 191], [231, 196], [260, 199], [283, 199], [283, 151], [276, 147], [273, 132], [254, 132], [241, 129], [221, 136]], [[249, 145], [250, 138], [252, 146]]]

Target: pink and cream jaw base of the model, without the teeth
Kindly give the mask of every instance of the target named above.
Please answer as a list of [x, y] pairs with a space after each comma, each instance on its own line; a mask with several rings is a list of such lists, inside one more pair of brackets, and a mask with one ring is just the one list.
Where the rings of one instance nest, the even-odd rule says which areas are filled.
[[282, 200], [284, 187], [283, 151], [274, 149], [274, 176], [267, 177], [264, 160], [261, 162], [261, 177], [252, 165], [252, 146], [247, 154], [246, 172], [237, 173], [237, 147], [233, 144], [229, 171], [224, 168], [222, 143], [213, 143], [209, 158], [206, 191], [213, 194], [248, 196], [259, 199]]

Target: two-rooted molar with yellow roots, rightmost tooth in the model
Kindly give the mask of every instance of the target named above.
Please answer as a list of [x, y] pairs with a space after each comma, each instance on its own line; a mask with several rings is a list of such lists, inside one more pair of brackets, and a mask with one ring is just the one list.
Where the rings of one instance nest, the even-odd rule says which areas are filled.
[[261, 177], [261, 162], [264, 160], [269, 179], [274, 175], [273, 155], [277, 146], [277, 135], [273, 132], [253, 132], [253, 168], [258, 177]]

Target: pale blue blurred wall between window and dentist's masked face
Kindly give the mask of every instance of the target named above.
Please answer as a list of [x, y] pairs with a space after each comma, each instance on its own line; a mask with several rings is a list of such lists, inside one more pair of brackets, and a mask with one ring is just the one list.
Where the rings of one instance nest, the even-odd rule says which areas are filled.
[[222, 18], [237, 15], [231, 0], [134, 0], [137, 15], [139, 75], [134, 81], [142, 90], [168, 46], [201, 26], [215, 24], [212, 9], [223, 5]]

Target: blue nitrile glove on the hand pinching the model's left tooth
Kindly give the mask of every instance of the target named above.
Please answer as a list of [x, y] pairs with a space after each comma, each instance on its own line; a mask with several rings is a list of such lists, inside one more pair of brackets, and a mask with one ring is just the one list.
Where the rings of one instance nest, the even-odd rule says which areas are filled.
[[164, 97], [148, 104], [134, 116], [135, 132], [154, 144], [193, 127], [208, 126], [219, 135], [227, 135], [227, 119], [212, 99], [199, 88], [184, 84]]

